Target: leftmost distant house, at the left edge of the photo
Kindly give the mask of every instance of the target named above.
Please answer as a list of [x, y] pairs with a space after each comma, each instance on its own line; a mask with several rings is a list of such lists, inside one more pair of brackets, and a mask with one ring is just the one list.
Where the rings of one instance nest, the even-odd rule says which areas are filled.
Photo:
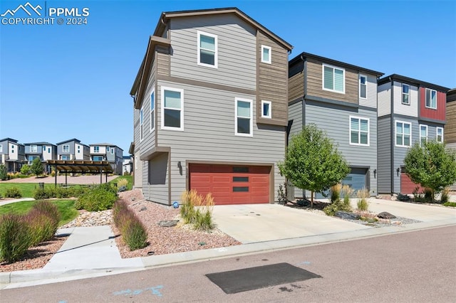
[[16, 139], [1, 139], [0, 164], [4, 164], [9, 172], [20, 171], [22, 164], [26, 163], [24, 150], [24, 144], [18, 143]]

